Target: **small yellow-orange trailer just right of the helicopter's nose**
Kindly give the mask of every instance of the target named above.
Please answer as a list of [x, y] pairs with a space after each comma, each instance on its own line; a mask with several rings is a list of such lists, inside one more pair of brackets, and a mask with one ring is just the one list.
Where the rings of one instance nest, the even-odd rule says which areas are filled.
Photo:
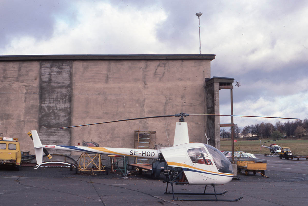
[[249, 172], [252, 171], [253, 174], [261, 172], [262, 176], [265, 176], [266, 163], [255, 163], [253, 161], [238, 160], [237, 161], [237, 172], [245, 171], [245, 175], [249, 175]]

